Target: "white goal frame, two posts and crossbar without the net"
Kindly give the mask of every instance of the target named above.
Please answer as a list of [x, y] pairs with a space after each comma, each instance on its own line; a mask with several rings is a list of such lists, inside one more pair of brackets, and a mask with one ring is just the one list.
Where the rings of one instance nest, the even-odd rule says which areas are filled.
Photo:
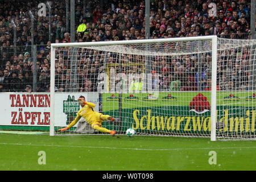
[[196, 36], [185, 38], [167, 38], [167, 39], [142, 39], [142, 40], [119, 40], [106, 42], [82, 42], [82, 43], [52, 43], [51, 44], [51, 78], [50, 78], [50, 111], [51, 121], [49, 127], [49, 135], [54, 136], [54, 119], [55, 119], [55, 50], [57, 47], [89, 47], [89, 46], [113, 46], [113, 45], [129, 45], [129, 44], [152, 44], [152, 43], [172, 43], [172, 42], [189, 42], [197, 40], [212, 41], [212, 90], [210, 102], [210, 140], [216, 141], [216, 113], [217, 113], [217, 36]]

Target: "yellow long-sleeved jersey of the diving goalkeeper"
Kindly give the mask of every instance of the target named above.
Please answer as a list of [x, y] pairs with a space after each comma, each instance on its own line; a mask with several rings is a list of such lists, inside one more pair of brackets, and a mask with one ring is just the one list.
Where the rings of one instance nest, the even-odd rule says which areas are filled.
[[72, 126], [76, 125], [76, 123], [79, 122], [81, 117], [83, 117], [85, 121], [88, 122], [90, 125], [92, 125], [92, 123], [96, 121], [102, 122], [102, 120], [100, 119], [101, 113], [94, 111], [94, 107], [95, 104], [91, 102], [86, 102], [86, 105], [84, 105], [84, 107], [82, 107], [77, 112], [76, 118], [68, 125], [68, 127], [71, 128]]

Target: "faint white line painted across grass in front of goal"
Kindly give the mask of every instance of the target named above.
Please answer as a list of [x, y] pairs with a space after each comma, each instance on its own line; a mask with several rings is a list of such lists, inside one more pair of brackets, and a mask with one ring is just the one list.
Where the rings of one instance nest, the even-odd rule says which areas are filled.
[[119, 147], [97, 147], [97, 146], [59, 146], [49, 144], [25, 144], [25, 143], [0, 143], [5, 145], [18, 145], [18, 146], [40, 146], [40, 147], [73, 147], [73, 148], [105, 148], [105, 149], [116, 149], [116, 150], [142, 150], [142, 151], [176, 151], [176, 150], [212, 150], [212, 149], [249, 149], [254, 147], [207, 147], [207, 148], [119, 148]]

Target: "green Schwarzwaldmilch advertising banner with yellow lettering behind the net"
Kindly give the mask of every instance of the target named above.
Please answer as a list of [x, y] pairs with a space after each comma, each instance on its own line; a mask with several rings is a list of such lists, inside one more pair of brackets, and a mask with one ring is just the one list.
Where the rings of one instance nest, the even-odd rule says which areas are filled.
[[[102, 105], [105, 114], [121, 118], [122, 131], [210, 133], [210, 92], [103, 94]], [[254, 93], [217, 93], [217, 133], [255, 134], [255, 114]]]

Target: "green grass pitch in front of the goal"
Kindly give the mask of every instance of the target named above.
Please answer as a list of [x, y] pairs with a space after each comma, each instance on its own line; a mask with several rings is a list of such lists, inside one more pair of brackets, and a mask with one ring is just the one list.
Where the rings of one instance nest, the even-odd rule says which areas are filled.
[[[0, 170], [256, 170], [256, 141], [0, 133]], [[46, 164], [39, 165], [39, 151]], [[216, 164], [209, 164], [210, 151]]]

